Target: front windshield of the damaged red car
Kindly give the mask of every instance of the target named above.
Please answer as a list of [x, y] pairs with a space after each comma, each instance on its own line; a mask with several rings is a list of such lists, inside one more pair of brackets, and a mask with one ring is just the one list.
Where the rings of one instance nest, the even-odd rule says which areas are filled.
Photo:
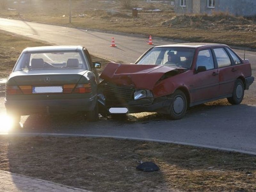
[[190, 68], [194, 53], [194, 48], [156, 47], [146, 53], [136, 64]]

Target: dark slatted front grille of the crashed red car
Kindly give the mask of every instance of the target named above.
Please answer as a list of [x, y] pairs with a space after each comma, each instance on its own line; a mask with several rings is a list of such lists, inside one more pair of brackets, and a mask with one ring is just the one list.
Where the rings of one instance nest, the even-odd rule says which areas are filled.
[[127, 105], [129, 101], [134, 100], [134, 91], [135, 89], [132, 87], [107, 83], [104, 87], [106, 104], [110, 106]]

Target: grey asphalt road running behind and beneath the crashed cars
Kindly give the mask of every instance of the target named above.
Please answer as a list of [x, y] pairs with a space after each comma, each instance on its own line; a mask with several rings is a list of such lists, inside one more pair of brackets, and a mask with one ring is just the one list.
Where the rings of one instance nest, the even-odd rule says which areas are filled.
[[[53, 44], [81, 44], [89, 52], [110, 60], [134, 62], [150, 46], [147, 39], [107, 33], [85, 31], [19, 20], [0, 18], [0, 29]], [[117, 47], [111, 48], [114, 36]], [[155, 45], [172, 44], [154, 40]], [[236, 50], [241, 56], [244, 52]], [[246, 58], [252, 63], [256, 76], [256, 53], [246, 51]], [[256, 83], [245, 95], [255, 99]], [[249, 105], [250, 104], [250, 105]], [[67, 133], [129, 137], [137, 139], [166, 140], [197, 146], [231, 148], [256, 153], [256, 103], [248, 102], [238, 106], [201, 105], [188, 111], [184, 119], [166, 120], [155, 114], [129, 115], [125, 121], [101, 118], [98, 123], [86, 123], [79, 116], [23, 117], [22, 130], [14, 132]], [[4, 98], [0, 98], [0, 113], [4, 113]], [[64, 120], [63, 120], [64, 119]]]

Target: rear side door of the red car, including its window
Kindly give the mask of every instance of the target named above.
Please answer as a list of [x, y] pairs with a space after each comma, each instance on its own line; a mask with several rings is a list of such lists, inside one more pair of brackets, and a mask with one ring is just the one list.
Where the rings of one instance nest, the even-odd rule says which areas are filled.
[[229, 95], [233, 91], [237, 67], [232, 65], [229, 54], [224, 47], [214, 48], [213, 52], [219, 69], [219, 96]]

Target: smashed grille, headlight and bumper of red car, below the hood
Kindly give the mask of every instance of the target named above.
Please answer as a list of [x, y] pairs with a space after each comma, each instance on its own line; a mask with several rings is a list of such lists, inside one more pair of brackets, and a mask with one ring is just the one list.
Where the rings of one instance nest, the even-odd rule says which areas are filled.
[[134, 87], [121, 86], [103, 81], [99, 88], [103, 90], [98, 94], [100, 111], [104, 113], [120, 113], [111, 109], [126, 108], [121, 113], [161, 112], [168, 113], [172, 99], [167, 96], [154, 98], [149, 90], [136, 90]]

